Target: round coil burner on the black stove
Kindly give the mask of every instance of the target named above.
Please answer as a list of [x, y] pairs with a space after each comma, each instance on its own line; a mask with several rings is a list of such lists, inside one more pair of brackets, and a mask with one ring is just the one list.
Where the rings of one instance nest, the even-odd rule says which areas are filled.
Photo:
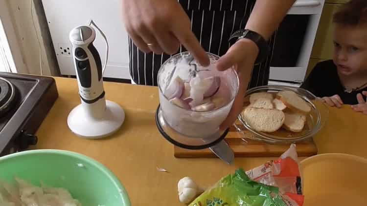
[[8, 80], [0, 77], [0, 115], [12, 107], [15, 96], [15, 86]]

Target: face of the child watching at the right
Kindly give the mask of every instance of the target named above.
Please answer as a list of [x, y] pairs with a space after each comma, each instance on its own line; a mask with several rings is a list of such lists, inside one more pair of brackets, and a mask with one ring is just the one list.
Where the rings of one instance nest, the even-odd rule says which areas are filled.
[[367, 74], [367, 24], [335, 25], [333, 61], [340, 74]]

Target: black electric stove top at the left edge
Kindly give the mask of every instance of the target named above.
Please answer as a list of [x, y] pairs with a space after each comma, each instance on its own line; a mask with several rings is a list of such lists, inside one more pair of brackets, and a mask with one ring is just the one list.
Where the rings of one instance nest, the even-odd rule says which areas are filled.
[[37, 143], [34, 134], [57, 97], [52, 78], [0, 72], [0, 156]]

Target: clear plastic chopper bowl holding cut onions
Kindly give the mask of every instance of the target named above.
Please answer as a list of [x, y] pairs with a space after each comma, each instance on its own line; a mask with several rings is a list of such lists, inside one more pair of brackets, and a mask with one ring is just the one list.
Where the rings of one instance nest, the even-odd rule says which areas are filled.
[[[219, 59], [211, 53], [207, 53], [210, 59], [210, 65], [203, 67], [199, 65], [189, 52], [183, 52], [172, 56], [161, 66], [158, 72], [158, 86], [160, 109], [164, 121], [180, 135], [188, 138], [211, 138], [219, 131], [220, 124], [226, 119], [232, 106], [235, 96], [238, 92], [239, 80], [236, 71], [229, 68], [226, 71], [218, 71], [215, 62]], [[164, 95], [164, 91], [172, 80], [177, 76], [188, 82], [192, 76], [192, 71], [199, 71], [200, 78], [218, 76], [221, 79], [221, 85], [216, 94], [227, 95], [228, 102], [222, 107], [210, 111], [192, 111], [181, 108], [170, 103]]]

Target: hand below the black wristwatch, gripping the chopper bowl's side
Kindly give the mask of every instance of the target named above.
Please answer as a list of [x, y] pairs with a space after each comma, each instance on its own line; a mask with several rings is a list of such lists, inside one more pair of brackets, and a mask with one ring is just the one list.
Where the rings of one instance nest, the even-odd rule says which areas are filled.
[[222, 130], [231, 126], [243, 109], [245, 93], [251, 80], [251, 73], [258, 52], [259, 49], [253, 41], [241, 39], [233, 44], [228, 52], [217, 62], [217, 69], [219, 71], [224, 71], [234, 66], [240, 81], [238, 93], [229, 111], [229, 115], [220, 126]]

